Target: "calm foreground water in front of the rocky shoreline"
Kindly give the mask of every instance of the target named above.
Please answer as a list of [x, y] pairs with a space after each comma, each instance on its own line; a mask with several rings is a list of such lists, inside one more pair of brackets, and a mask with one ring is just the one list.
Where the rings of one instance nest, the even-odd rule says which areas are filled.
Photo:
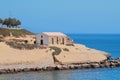
[[120, 80], [120, 68], [4, 74], [0, 80]]

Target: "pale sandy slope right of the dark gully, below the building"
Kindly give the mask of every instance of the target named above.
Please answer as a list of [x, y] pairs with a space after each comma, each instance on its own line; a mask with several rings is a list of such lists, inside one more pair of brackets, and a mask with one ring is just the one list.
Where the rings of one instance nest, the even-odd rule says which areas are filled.
[[87, 48], [84, 45], [74, 44], [74, 46], [58, 46], [61, 49], [67, 48], [69, 51], [62, 50], [56, 58], [63, 64], [66, 63], [84, 63], [84, 62], [100, 62], [107, 59], [105, 52]]

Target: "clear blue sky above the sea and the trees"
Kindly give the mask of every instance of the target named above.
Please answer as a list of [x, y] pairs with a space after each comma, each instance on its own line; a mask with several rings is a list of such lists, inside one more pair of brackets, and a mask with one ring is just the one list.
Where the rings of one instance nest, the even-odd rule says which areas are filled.
[[0, 18], [34, 33], [120, 33], [120, 0], [0, 0]]

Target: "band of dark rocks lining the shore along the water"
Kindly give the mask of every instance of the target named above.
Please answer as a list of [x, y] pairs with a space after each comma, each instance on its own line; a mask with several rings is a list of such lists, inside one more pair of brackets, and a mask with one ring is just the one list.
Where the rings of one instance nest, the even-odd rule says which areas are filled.
[[48, 66], [42, 68], [34, 67], [34, 68], [0, 69], [0, 74], [31, 72], [31, 71], [74, 70], [74, 69], [114, 68], [114, 67], [120, 67], [120, 58], [104, 60], [101, 62], [56, 65], [54, 67]]

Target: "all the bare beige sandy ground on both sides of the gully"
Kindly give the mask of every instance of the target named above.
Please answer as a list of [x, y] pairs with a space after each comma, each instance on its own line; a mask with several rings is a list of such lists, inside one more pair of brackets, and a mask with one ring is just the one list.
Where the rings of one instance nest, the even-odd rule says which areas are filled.
[[[54, 46], [62, 49], [62, 52], [55, 57], [64, 64], [99, 62], [106, 59], [103, 55], [104, 52], [89, 49], [84, 45], [75, 44], [75, 46]], [[67, 48], [69, 51], [64, 51], [63, 48]], [[18, 50], [9, 47], [3, 42], [0, 42], [0, 68], [15, 67], [14, 65], [17, 67], [54, 66], [52, 52], [53, 50], [50, 50], [49, 48]]]

